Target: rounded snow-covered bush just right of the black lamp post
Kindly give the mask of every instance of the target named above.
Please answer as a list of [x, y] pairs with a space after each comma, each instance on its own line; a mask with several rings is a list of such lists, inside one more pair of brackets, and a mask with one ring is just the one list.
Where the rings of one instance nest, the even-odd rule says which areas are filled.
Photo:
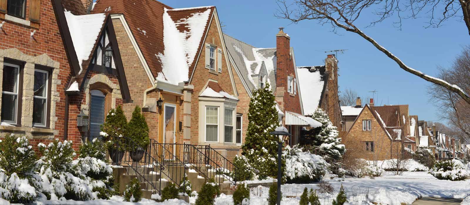
[[319, 180], [329, 164], [323, 158], [310, 152], [303, 152], [299, 146], [286, 146], [282, 152], [286, 168], [284, 176], [288, 181]]

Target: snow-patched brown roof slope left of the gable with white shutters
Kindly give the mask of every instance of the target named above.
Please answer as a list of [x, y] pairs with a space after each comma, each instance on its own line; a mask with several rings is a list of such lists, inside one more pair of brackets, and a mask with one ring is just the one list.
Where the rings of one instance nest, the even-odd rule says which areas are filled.
[[[189, 67], [196, 58], [201, 39], [204, 36], [209, 21], [211, 8], [207, 7], [201, 12], [191, 13], [186, 18], [173, 20], [171, 11], [183, 11], [194, 8], [167, 9], [163, 13], [163, 44], [164, 52], [155, 56], [162, 63], [162, 71], [157, 80], [167, 81], [178, 85], [188, 81]], [[200, 7], [198, 7], [200, 9]]]

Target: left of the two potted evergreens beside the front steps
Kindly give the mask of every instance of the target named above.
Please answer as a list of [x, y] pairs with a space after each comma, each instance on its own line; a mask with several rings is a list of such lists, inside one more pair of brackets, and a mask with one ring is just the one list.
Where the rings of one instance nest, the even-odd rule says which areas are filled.
[[103, 141], [106, 142], [108, 149], [114, 148], [116, 143], [124, 144], [126, 128], [127, 119], [122, 107], [119, 105], [118, 108], [111, 109], [106, 116], [106, 121], [101, 125]]

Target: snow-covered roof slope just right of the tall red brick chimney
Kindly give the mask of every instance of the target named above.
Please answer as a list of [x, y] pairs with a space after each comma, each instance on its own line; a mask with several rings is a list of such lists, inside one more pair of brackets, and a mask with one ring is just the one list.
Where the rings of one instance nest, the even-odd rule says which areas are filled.
[[304, 114], [313, 115], [313, 112], [320, 106], [325, 87], [323, 75], [318, 69], [297, 67], [297, 78], [300, 92], [303, 94], [302, 105], [304, 107]]

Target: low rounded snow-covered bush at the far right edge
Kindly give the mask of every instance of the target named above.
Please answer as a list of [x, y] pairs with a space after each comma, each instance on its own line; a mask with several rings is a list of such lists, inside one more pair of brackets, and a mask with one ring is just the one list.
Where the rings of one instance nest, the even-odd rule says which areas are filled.
[[469, 173], [463, 167], [462, 162], [457, 161], [458, 160], [438, 161], [434, 167], [429, 170], [429, 174], [440, 180], [464, 180], [467, 178]]

